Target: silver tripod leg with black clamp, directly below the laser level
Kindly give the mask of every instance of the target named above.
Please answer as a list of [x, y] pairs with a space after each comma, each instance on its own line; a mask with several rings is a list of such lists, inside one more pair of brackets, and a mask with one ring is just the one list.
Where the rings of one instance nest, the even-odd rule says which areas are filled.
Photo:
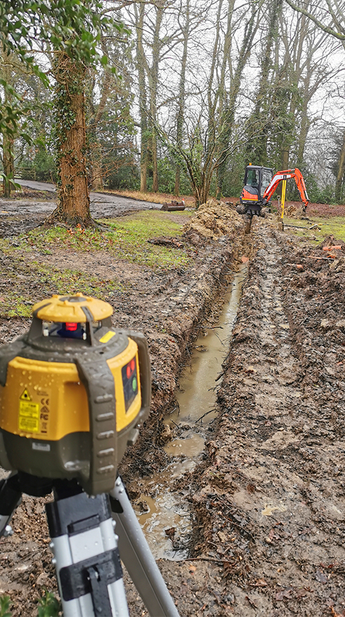
[[46, 505], [64, 617], [128, 617], [108, 495]]

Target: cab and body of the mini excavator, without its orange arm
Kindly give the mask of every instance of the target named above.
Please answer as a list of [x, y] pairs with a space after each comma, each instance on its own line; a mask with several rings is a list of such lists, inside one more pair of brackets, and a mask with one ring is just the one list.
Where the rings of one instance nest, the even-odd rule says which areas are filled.
[[239, 202], [245, 213], [258, 214], [262, 208], [262, 197], [273, 178], [273, 169], [248, 165], [244, 174], [244, 188]]

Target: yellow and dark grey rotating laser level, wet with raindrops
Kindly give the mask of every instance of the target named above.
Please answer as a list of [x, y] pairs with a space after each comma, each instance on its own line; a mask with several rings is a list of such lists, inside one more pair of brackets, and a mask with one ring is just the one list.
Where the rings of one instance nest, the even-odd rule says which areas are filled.
[[109, 492], [150, 409], [146, 339], [112, 328], [111, 305], [83, 294], [52, 296], [32, 314], [0, 349], [0, 465]]

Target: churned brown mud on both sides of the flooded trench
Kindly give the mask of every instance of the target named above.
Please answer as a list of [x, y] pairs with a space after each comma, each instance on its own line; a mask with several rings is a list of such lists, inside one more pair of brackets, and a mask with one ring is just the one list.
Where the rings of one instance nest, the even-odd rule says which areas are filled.
[[[312, 246], [277, 231], [273, 216], [255, 218], [245, 236], [242, 217], [215, 203], [186, 225], [183, 241], [195, 259], [168, 275], [105, 255], [91, 264], [89, 255], [45, 257], [64, 267], [78, 259], [86, 272], [121, 268], [132, 280], [129, 295], [112, 299], [114, 323], [148, 338], [152, 412], [121, 466], [130, 493], [168, 463], [162, 418], [179, 372], [199, 328], [215, 321], [229, 272], [250, 258], [217, 423], [197, 468], [170, 487], [193, 522], [190, 558], [159, 560], [179, 614], [345, 615], [344, 243]], [[342, 249], [329, 257], [326, 245]], [[50, 292], [37, 285], [42, 298]], [[28, 323], [0, 319], [0, 343]], [[14, 535], [0, 540], [0, 593], [12, 598], [15, 617], [36, 614], [44, 588], [56, 591], [43, 501], [24, 497]], [[130, 616], [147, 615], [127, 578], [126, 587]]]

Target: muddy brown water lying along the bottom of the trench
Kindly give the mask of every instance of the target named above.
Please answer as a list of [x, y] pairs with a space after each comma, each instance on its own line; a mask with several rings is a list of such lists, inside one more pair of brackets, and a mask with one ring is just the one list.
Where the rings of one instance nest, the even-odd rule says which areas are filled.
[[219, 323], [213, 328], [204, 328], [179, 379], [179, 389], [175, 392], [177, 404], [164, 420], [167, 431], [172, 429], [177, 433], [177, 437], [164, 446], [172, 462], [164, 471], [144, 481], [143, 492], [133, 503], [155, 558], [181, 560], [188, 557], [191, 522], [184, 494], [186, 489], [170, 492], [170, 487], [198, 464], [210, 425], [215, 420], [221, 365], [228, 354], [247, 269], [247, 264], [242, 264], [234, 275]]

